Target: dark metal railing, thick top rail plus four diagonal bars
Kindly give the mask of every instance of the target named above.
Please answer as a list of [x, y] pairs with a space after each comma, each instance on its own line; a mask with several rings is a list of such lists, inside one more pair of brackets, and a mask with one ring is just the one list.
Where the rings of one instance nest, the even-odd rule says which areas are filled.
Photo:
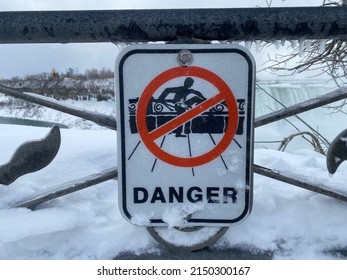
[[[210, 42], [273, 41], [303, 39], [347, 39], [346, 7], [33, 11], [0, 12], [0, 44], [88, 43], [88, 42]], [[116, 119], [92, 112], [71, 110], [59, 102], [0, 85], [0, 92], [16, 98], [76, 115], [116, 130]], [[259, 127], [278, 119], [347, 98], [341, 88], [255, 120]], [[347, 195], [325, 185], [313, 185], [295, 174], [282, 174], [262, 166], [254, 172], [342, 201]], [[14, 205], [36, 205], [117, 177], [117, 169], [81, 178], [37, 194]]]

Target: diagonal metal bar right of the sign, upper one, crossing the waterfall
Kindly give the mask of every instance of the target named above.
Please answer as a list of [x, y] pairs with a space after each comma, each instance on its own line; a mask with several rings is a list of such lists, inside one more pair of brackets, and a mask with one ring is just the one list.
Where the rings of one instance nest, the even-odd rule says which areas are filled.
[[263, 126], [281, 119], [285, 119], [345, 98], [347, 98], [347, 88], [339, 88], [327, 94], [301, 102], [300, 104], [295, 104], [276, 112], [257, 117], [254, 121], [254, 127]]

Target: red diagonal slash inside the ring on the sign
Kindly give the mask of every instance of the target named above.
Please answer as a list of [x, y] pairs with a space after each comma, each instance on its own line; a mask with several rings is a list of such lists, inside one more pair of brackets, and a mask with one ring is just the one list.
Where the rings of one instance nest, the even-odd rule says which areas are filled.
[[224, 99], [225, 98], [223, 94], [218, 93], [212, 98], [209, 98], [201, 102], [198, 106], [184, 112], [183, 114], [177, 116], [176, 118], [170, 120], [169, 122], [161, 125], [157, 129], [151, 131], [149, 133], [151, 140], [154, 141], [158, 139], [159, 137], [171, 132], [175, 128], [185, 124], [186, 122], [190, 121], [191, 119], [194, 119], [195, 117], [207, 111], [208, 109], [212, 108], [213, 106], [217, 105], [218, 103], [224, 101]]

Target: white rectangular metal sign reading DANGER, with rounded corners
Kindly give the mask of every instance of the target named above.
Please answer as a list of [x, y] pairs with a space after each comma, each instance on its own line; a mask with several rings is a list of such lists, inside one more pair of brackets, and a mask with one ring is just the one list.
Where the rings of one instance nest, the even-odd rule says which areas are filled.
[[137, 45], [119, 54], [119, 204], [126, 219], [228, 226], [248, 216], [254, 65], [235, 45]]

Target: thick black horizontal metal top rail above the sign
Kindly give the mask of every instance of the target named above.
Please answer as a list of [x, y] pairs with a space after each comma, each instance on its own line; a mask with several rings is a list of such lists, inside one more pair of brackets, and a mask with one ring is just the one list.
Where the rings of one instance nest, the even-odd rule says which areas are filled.
[[346, 38], [347, 8], [0, 12], [0, 43]]

